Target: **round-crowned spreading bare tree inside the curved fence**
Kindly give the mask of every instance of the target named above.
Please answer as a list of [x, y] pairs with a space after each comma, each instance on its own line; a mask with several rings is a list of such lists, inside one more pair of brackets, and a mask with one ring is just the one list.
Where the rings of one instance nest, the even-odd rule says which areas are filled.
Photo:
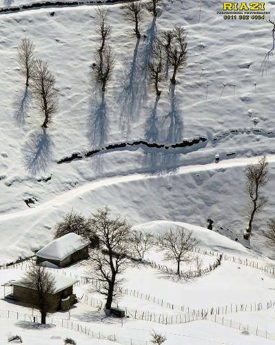
[[191, 262], [194, 259], [192, 249], [198, 241], [192, 236], [192, 231], [183, 228], [169, 228], [159, 235], [159, 250], [164, 250], [165, 259], [176, 262], [176, 274], [181, 275], [181, 262]]

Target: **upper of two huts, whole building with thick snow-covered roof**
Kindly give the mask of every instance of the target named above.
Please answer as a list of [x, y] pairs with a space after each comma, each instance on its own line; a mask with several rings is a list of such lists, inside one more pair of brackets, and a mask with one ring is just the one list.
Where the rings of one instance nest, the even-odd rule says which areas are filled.
[[76, 233], [69, 233], [47, 244], [37, 252], [37, 264], [51, 262], [59, 267], [65, 267], [81, 259], [89, 257], [90, 241]]

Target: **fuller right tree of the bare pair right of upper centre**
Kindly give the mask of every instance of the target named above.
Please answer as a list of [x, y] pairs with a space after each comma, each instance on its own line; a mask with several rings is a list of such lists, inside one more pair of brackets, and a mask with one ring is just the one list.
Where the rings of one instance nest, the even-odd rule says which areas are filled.
[[183, 70], [187, 66], [187, 31], [180, 26], [175, 26], [172, 33], [164, 34], [166, 37], [165, 51], [171, 66], [173, 75], [171, 83], [176, 83], [176, 72]]

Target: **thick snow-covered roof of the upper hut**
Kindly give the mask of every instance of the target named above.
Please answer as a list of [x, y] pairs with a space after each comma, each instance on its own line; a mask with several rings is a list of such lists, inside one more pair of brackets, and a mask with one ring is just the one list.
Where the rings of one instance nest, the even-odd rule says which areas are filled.
[[37, 256], [44, 259], [63, 260], [77, 250], [88, 246], [88, 244], [90, 242], [84, 242], [83, 237], [76, 233], [69, 233], [46, 244], [45, 247], [37, 252]]

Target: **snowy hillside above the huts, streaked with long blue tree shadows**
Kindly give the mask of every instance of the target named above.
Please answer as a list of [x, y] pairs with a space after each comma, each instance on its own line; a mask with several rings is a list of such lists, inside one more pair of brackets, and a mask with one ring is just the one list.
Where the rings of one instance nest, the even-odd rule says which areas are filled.
[[[274, 4], [266, 7], [272, 10]], [[108, 204], [133, 224], [167, 219], [206, 226], [211, 218], [221, 233], [241, 241], [247, 157], [269, 154], [274, 179], [272, 56], [269, 69], [263, 70], [272, 47], [270, 24], [225, 21], [216, 14], [221, 10], [218, 1], [201, 1], [200, 11], [192, 1], [163, 0], [156, 20], [145, 11], [146, 37], [136, 42], [123, 5], [109, 8], [116, 67], [105, 95], [104, 118], [99, 117], [100, 95], [90, 68], [96, 49], [95, 6], [55, 8], [54, 16], [52, 9], [43, 8], [0, 16], [2, 260], [49, 242], [50, 228], [72, 206], [88, 215]], [[188, 31], [188, 66], [179, 72], [175, 90], [169, 78], [163, 83], [152, 117], [156, 99], [144, 63], [156, 34], [172, 23]], [[59, 112], [46, 131], [41, 130], [30, 95], [23, 98], [16, 48], [25, 35], [34, 41], [37, 57], [48, 61], [59, 88]], [[83, 156], [125, 140], [174, 144], [198, 136], [207, 140], [168, 150], [128, 146], [57, 164], [74, 152]], [[252, 237], [252, 247], [259, 250], [264, 248], [265, 219], [274, 213], [270, 186], [269, 205]]]

